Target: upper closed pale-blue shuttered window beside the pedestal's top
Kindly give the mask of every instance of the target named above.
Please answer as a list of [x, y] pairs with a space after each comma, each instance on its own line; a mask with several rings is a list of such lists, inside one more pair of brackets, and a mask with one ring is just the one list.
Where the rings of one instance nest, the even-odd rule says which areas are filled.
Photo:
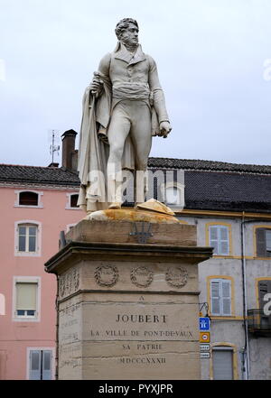
[[209, 226], [209, 245], [214, 248], [214, 255], [229, 255], [229, 227]]

